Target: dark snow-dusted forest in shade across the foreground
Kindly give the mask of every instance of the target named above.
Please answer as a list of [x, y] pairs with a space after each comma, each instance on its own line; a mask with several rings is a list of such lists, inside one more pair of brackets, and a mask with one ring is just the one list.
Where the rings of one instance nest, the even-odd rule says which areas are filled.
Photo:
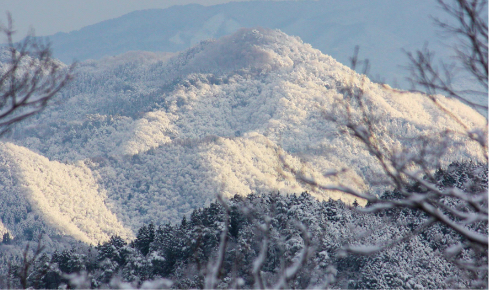
[[[436, 172], [440, 188], [457, 187], [468, 194], [487, 190], [487, 175], [485, 164], [471, 162]], [[419, 184], [410, 190], [423, 192]], [[402, 198], [398, 195], [386, 192], [382, 198]], [[443, 202], [456, 206], [448, 197]], [[132, 241], [113, 236], [95, 247], [80, 244], [41, 253], [27, 259], [32, 261], [27, 270], [22, 255], [12, 255], [8, 267], [2, 267], [0, 287], [106, 288], [121, 282], [140, 287], [165, 278], [159, 286], [204, 288], [221, 258], [215, 271], [217, 288], [480, 288], [474, 281], [487, 280], [487, 272], [474, 277], [476, 272], [451, 262], [445, 250], [463, 238], [446, 226], [437, 223], [414, 234], [412, 230], [428, 218], [421, 211], [369, 214], [368, 208], [331, 199], [320, 202], [306, 192], [237, 195], [196, 209], [178, 224], [155, 220], [142, 226]], [[487, 235], [487, 221], [472, 226]], [[401, 237], [409, 238], [388, 246]], [[4, 236], [1, 247], [21, 244]], [[35, 241], [31, 244], [35, 250]], [[346, 245], [385, 249], [353, 255], [342, 251]], [[224, 255], [219, 254], [222, 246]], [[487, 264], [487, 249], [462, 255]]]

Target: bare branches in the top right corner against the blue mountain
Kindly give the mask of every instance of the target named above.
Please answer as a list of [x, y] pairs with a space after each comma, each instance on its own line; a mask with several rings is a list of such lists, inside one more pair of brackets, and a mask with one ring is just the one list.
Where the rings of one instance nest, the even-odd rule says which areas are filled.
[[[456, 62], [440, 62], [441, 69], [434, 64], [434, 52], [425, 45], [415, 53], [407, 52], [410, 61], [413, 90], [417, 85], [429, 95], [442, 93], [456, 98], [469, 106], [487, 111], [487, 102], [476, 103], [466, 97], [467, 93], [487, 96], [488, 93], [488, 37], [487, 37], [487, 0], [437, 0], [441, 9], [451, 18], [450, 21], [435, 18], [438, 25], [448, 36], [454, 36], [457, 43], [453, 49]], [[453, 87], [454, 75], [462, 70], [475, 78], [480, 89], [457, 90]]]

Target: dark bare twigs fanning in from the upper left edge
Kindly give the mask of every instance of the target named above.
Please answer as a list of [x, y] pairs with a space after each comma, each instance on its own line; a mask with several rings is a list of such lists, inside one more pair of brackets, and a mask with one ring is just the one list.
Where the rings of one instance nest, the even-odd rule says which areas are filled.
[[65, 68], [51, 56], [49, 44], [33, 35], [14, 44], [13, 21], [7, 13], [8, 25], [0, 24], [7, 46], [0, 50], [9, 59], [0, 63], [0, 136], [8, 128], [46, 107], [48, 101], [73, 79], [75, 64]]

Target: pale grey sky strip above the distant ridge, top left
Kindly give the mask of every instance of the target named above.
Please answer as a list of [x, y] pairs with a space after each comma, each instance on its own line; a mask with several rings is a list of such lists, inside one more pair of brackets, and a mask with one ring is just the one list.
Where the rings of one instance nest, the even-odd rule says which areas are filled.
[[[18, 31], [16, 40], [19, 40], [29, 27], [34, 28], [36, 35], [43, 36], [77, 30], [135, 10], [231, 1], [238, 0], [0, 0], [0, 22], [7, 23], [6, 12], [10, 11]], [[0, 43], [3, 41], [0, 39]]]

